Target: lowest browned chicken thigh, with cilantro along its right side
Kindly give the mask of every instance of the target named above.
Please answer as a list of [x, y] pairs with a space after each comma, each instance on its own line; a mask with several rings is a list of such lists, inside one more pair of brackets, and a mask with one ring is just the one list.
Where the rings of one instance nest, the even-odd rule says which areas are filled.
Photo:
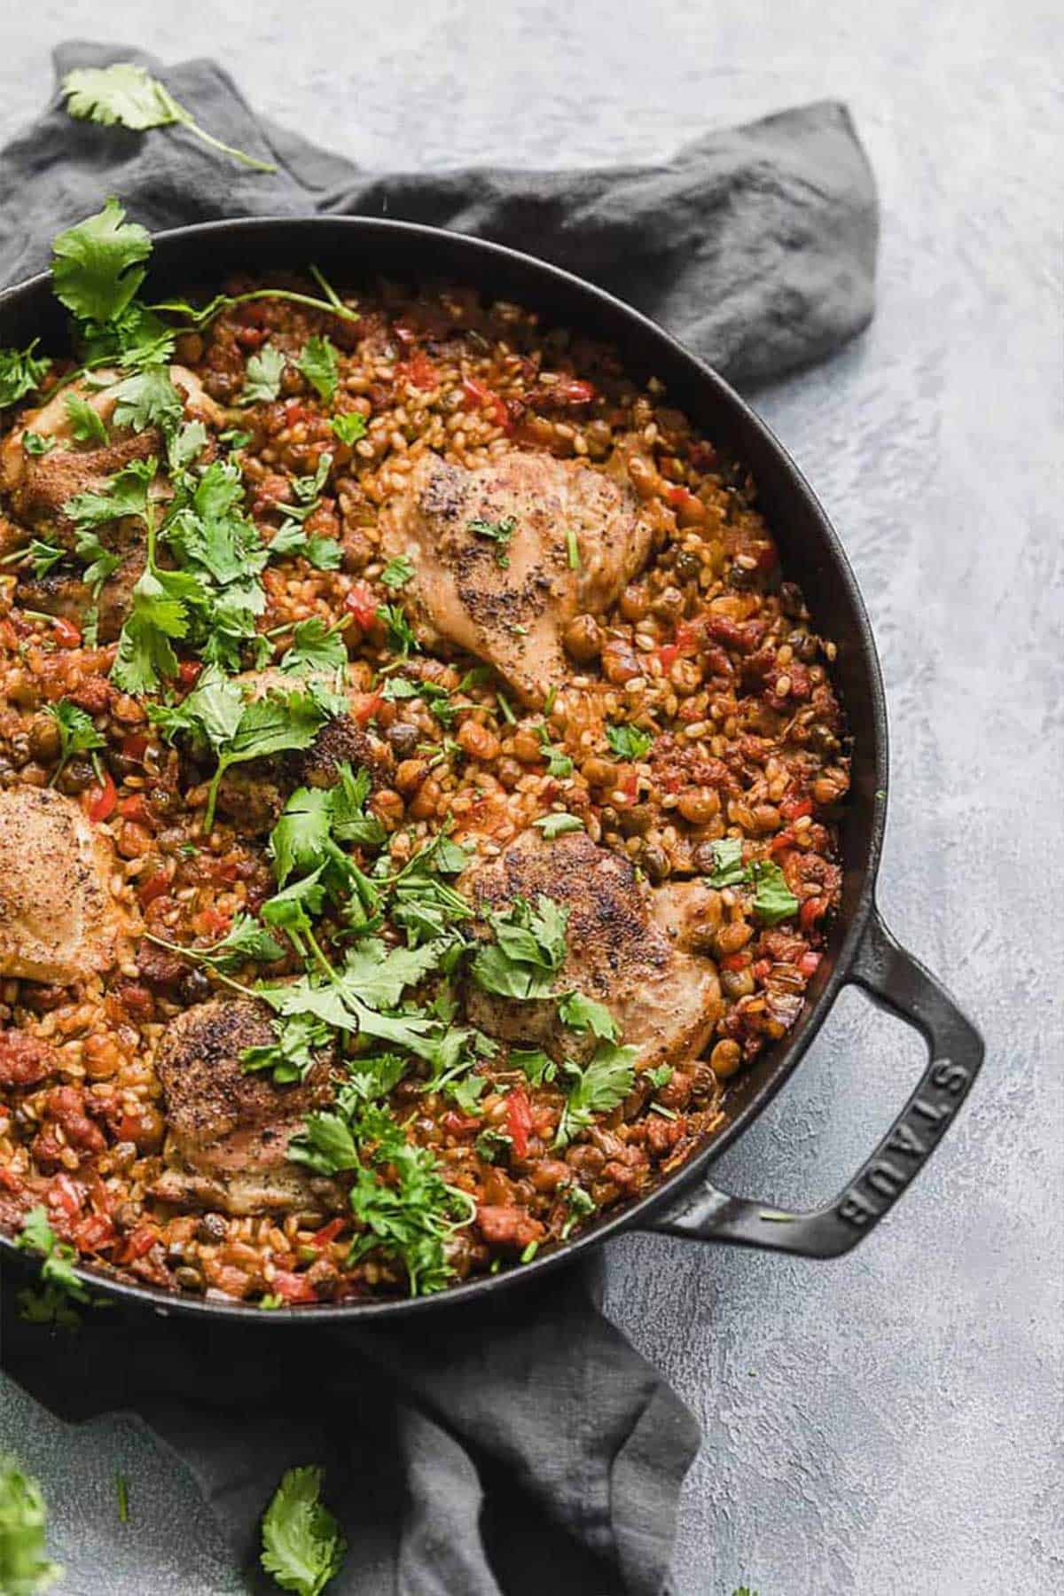
[[321, 1207], [330, 1183], [286, 1157], [306, 1112], [329, 1100], [329, 1066], [298, 1085], [246, 1074], [241, 1053], [274, 1041], [270, 1010], [246, 998], [211, 998], [166, 1028], [155, 1069], [166, 1100], [166, 1202], [246, 1215]]

